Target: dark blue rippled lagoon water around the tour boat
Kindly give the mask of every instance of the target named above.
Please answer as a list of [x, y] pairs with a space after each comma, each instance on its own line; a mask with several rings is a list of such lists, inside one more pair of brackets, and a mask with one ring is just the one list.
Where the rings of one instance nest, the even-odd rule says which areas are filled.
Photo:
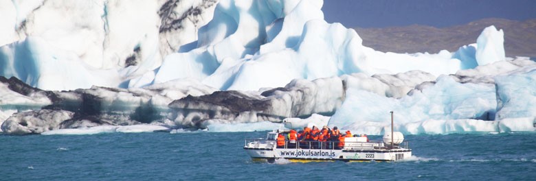
[[[266, 132], [0, 135], [0, 180], [533, 180], [536, 134], [406, 136], [403, 162], [252, 162]], [[379, 136], [371, 136], [379, 138]]]

